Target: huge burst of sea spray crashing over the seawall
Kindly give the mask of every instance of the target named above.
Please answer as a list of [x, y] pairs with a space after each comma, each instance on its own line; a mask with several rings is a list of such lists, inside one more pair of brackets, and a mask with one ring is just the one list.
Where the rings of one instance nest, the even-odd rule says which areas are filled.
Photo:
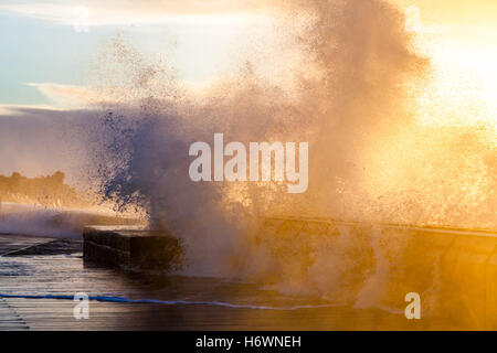
[[[491, 150], [474, 131], [463, 149], [463, 136], [416, 125], [415, 98], [429, 61], [413, 52], [405, 19], [392, 6], [292, 1], [283, 13], [288, 26], [304, 23], [295, 39], [300, 65], [288, 67], [297, 83], [292, 87], [275, 87], [248, 63], [237, 77], [221, 79], [199, 97], [115, 41], [109, 57], [126, 81], [113, 87], [125, 94], [105, 106], [110, 113], [98, 125], [102, 194], [121, 210], [144, 210], [151, 227], [181, 237], [187, 274], [255, 279], [287, 292], [359, 298], [358, 306], [374, 306], [389, 261], [399, 260], [385, 257], [384, 248], [400, 254], [403, 242], [389, 243], [390, 235], [379, 231], [358, 235], [346, 228], [297, 243], [267, 238], [286, 254], [282, 261], [256, 240], [271, 236], [261, 220], [279, 214], [495, 226]], [[282, 32], [275, 34], [286, 35]], [[287, 194], [275, 182], [192, 182], [189, 147], [219, 131], [242, 143], [309, 141], [307, 192]], [[464, 159], [444, 159], [455, 156], [454, 149], [470, 160], [461, 162], [457, 176], [453, 165]], [[456, 183], [438, 184], [444, 179]], [[458, 204], [453, 197], [465, 188], [470, 192], [463, 192]], [[466, 210], [465, 217], [453, 212], [457, 207]], [[319, 248], [310, 265], [294, 256], [306, 246]]]

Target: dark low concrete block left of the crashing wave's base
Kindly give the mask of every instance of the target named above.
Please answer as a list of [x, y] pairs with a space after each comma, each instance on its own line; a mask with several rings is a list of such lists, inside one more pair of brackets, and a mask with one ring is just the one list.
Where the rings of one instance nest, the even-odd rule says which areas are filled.
[[180, 240], [166, 231], [89, 226], [84, 228], [83, 238], [85, 261], [165, 270], [181, 266]]

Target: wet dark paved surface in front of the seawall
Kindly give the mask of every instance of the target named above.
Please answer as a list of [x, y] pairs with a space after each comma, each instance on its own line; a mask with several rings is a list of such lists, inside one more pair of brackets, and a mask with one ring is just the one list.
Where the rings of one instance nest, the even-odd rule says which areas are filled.
[[[0, 254], [0, 330], [468, 329], [433, 318], [406, 320], [403, 312], [283, 296], [254, 284], [88, 265], [81, 240], [1, 235]], [[96, 299], [89, 301], [88, 319], [76, 320], [77, 302], [67, 300], [80, 292]], [[162, 302], [133, 302], [140, 299]]]

